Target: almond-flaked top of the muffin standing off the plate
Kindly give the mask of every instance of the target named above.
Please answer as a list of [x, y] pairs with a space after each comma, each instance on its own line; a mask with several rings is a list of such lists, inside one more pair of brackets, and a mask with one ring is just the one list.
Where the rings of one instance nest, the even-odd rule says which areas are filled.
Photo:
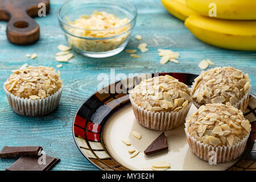
[[50, 67], [28, 67], [13, 71], [5, 82], [6, 90], [20, 98], [46, 98], [62, 86], [60, 72]]

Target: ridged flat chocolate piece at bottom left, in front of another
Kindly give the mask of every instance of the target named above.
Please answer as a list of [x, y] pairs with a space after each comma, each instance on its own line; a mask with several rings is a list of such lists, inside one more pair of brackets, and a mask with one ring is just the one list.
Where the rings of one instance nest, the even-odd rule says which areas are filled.
[[21, 156], [11, 167], [6, 168], [6, 171], [49, 171], [59, 162], [60, 159], [48, 155]]

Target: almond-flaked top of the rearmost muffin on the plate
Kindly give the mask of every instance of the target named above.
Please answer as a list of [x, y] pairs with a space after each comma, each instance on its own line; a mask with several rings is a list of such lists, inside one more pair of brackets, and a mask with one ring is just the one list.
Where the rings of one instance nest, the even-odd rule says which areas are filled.
[[248, 74], [232, 67], [201, 72], [192, 86], [192, 99], [199, 105], [230, 102], [235, 105], [250, 88]]

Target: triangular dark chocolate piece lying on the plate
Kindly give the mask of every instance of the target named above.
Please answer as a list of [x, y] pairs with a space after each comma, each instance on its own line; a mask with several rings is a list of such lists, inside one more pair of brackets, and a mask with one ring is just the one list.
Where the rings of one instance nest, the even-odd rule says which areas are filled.
[[164, 135], [164, 132], [159, 135], [158, 138], [156, 138], [150, 146], [146, 148], [144, 151], [144, 154], [149, 155], [153, 154], [155, 152], [163, 151], [168, 149], [168, 144], [167, 144], [167, 138]]

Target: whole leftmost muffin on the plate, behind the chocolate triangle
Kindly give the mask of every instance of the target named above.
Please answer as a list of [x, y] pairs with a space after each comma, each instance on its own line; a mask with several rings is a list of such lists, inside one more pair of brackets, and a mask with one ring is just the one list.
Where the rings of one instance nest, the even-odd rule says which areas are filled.
[[137, 121], [151, 130], [183, 124], [192, 104], [188, 86], [169, 75], [142, 81], [129, 97]]

